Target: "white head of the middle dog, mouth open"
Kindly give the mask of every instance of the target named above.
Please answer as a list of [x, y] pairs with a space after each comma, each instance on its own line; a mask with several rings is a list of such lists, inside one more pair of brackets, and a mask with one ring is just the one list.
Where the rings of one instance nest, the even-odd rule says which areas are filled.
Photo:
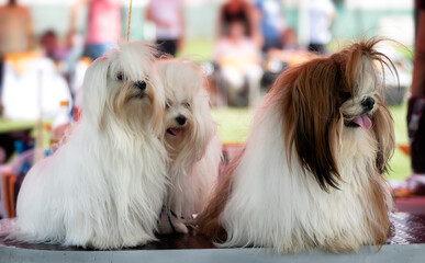
[[215, 132], [202, 73], [187, 60], [158, 61], [156, 68], [166, 91], [166, 147], [174, 159], [200, 160]]

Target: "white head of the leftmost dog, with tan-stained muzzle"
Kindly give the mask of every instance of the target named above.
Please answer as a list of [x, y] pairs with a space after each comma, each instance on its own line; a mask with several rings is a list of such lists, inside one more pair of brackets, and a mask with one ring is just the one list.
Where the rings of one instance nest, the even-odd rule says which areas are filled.
[[[100, 129], [161, 128], [164, 91], [152, 73], [153, 52], [142, 43], [114, 49], [90, 66], [85, 79], [83, 114]], [[150, 130], [149, 130], [150, 129]]]

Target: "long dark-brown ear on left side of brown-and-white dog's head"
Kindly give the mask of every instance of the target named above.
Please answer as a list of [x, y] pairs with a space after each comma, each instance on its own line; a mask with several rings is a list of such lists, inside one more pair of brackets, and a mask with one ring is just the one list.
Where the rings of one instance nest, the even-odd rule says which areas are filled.
[[[283, 96], [284, 135], [306, 171], [320, 186], [338, 187], [339, 173], [335, 162], [340, 114], [337, 106], [337, 64], [329, 58], [316, 58], [288, 70], [277, 82], [288, 89]], [[291, 163], [291, 161], [289, 160]]]

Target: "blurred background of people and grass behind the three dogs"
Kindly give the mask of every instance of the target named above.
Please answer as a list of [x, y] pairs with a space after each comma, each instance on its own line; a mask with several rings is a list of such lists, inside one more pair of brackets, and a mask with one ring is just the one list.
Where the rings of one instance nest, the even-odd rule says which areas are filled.
[[[85, 71], [126, 38], [130, 0], [0, 0], [0, 186], [13, 196], [32, 163], [51, 155], [78, 121]], [[400, 76], [398, 88], [387, 75], [385, 94], [398, 144], [388, 179], [398, 185], [412, 174], [406, 101], [414, 21], [413, 0], [133, 0], [130, 39], [157, 43], [164, 53], [201, 65], [228, 152], [245, 140], [255, 107], [288, 67], [356, 39], [395, 39], [379, 48]], [[1, 202], [11, 203], [3, 204], [0, 217], [11, 216], [13, 198]]]

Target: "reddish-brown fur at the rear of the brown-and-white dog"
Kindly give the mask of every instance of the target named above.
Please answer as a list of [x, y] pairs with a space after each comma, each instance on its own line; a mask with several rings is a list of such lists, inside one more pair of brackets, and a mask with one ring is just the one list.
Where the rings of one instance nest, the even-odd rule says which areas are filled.
[[231, 197], [233, 173], [239, 165], [244, 151], [245, 147], [243, 147], [236, 157], [231, 161], [225, 173], [222, 175], [222, 178], [219, 179], [217, 184], [215, 185], [215, 190], [212, 192], [212, 197], [210, 198], [209, 204], [195, 219], [198, 230], [203, 235], [216, 239], [216, 241], [226, 240], [227, 237], [225, 229], [223, 226], [221, 226], [220, 217], [227, 204], [228, 198]]

